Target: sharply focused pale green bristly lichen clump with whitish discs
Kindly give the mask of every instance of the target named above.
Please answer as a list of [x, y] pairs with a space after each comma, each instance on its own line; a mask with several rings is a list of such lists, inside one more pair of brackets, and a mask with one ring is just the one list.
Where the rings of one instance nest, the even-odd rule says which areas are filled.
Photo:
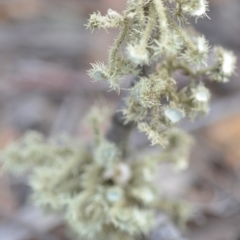
[[[94, 13], [89, 19], [92, 30], [120, 29], [108, 64], [92, 64], [89, 75], [95, 81], [108, 80], [117, 91], [126, 74], [140, 76], [129, 89], [123, 113], [126, 122], [136, 122], [153, 145], [166, 146], [167, 132], [183, 118], [208, 112], [210, 92], [203, 79], [227, 82], [234, 73], [233, 53], [211, 48], [188, 26], [188, 17], [198, 19], [207, 11], [206, 0], [128, 0], [121, 14], [109, 10], [106, 16]], [[145, 76], [143, 66], [151, 66]], [[187, 77], [186, 83], [179, 81], [180, 73]]]

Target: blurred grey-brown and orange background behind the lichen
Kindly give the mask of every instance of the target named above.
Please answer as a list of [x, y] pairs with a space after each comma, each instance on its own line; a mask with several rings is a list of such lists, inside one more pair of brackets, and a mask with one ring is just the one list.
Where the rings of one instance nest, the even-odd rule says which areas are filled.
[[[106, 61], [117, 32], [85, 29], [89, 14], [122, 10], [125, 0], [0, 0], [0, 148], [29, 129], [53, 136], [67, 131], [89, 139], [81, 120], [99, 97], [119, 97], [105, 83], [92, 83], [90, 62]], [[210, 44], [240, 56], [240, 1], [211, 0], [211, 18], [196, 29]], [[195, 25], [195, 20], [192, 21]], [[194, 206], [185, 234], [191, 240], [240, 239], [240, 64], [230, 83], [208, 84], [211, 113], [182, 128], [196, 138], [190, 168], [161, 169], [160, 185], [174, 199]], [[147, 146], [133, 134], [136, 148]], [[29, 201], [24, 176], [0, 175], [1, 240], [72, 240], [61, 216]]]

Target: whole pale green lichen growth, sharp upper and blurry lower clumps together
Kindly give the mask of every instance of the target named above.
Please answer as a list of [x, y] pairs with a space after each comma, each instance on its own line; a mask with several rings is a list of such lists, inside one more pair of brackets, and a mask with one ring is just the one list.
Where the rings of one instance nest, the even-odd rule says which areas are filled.
[[[87, 24], [92, 30], [120, 29], [108, 64], [92, 64], [88, 73], [95, 81], [108, 80], [117, 92], [126, 74], [137, 76], [120, 111], [125, 123], [135, 123], [153, 145], [164, 147], [160, 153], [126, 157], [101, 132], [108, 111], [97, 108], [86, 121], [93, 131], [88, 147], [67, 137], [46, 140], [29, 133], [2, 152], [5, 168], [33, 169], [34, 201], [64, 212], [81, 239], [133, 240], [154, 228], [159, 209], [179, 211], [178, 220], [186, 215], [163, 201], [155, 178], [159, 163], [187, 167], [192, 139], [176, 125], [208, 112], [210, 91], [203, 79], [227, 82], [234, 73], [233, 53], [211, 49], [187, 26], [188, 17], [207, 16], [207, 10], [206, 0], [128, 0], [123, 13], [93, 13]], [[179, 81], [181, 74], [187, 81]]]

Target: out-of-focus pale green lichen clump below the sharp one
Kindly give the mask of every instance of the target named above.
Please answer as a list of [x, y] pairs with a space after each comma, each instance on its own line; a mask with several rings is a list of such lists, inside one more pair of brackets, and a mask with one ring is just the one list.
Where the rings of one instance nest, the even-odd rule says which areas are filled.
[[64, 211], [80, 236], [130, 240], [154, 226], [160, 202], [154, 179], [159, 161], [171, 156], [166, 152], [162, 159], [148, 156], [123, 162], [118, 148], [104, 139], [90, 153], [76, 140], [48, 142], [32, 132], [1, 158], [11, 170], [35, 166], [30, 179], [34, 202]]

